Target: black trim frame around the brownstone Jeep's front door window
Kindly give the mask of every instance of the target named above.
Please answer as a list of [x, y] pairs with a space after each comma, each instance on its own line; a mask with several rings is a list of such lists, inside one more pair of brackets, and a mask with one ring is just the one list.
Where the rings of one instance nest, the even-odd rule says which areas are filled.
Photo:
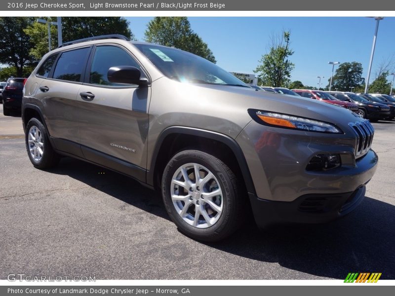
[[87, 65], [85, 68], [85, 74], [84, 74], [84, 80], [82, 82], [83, 85], [89, 85], [89, 86], [94, 86], [94, 87], [102, 87], [102, 88], [112, 88], [112, 89], [124, 89], [124, 88], [138, 88], [140, 87], [137, 84], [129, 84], [129, 85], [101, 85], [101, 84], [95, 84], [95, 83], [90, 83], [89, 82], [89, 77], [90, 77], [90, 70], [92, 68], [92, 60], [93, 60], [93, 56], [96, 52], [96, 48], [99, 46], [115, 46], [115, 47], [119, 47], [120, 49], [123, 49], [126, 51], [127, 54], [130, 55], [130, 57], [136, 61], [136, 63], [140, 66], [141, 70], [143, 71], [144, 75], [148, 78], [148, 87], [151, 86], [151, 76], [148, 74], [147, 70], [145, 70], [145, 68], [143, 67], [143, 65], [140, 63], [140, 61], [133, 55], [133, 53], [130, 52], [130, 50], [128, 50], [127, 48], [117, 44], [117, 43], [98, 43], [98, 44], [94, 44], [92, 45], [92, 50], [90, 52], [88, 61], [87, 61]]

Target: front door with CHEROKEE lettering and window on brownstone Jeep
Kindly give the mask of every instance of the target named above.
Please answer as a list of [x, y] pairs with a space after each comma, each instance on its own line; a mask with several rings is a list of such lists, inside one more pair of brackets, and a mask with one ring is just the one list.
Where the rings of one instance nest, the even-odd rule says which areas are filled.
[[85, 83], [77, 96], [80, 143], [84, 156], [97, 163], [108, 163], [106, 166], [112, 168], [108, 160], [133, 164], [135, 167], [130, 166], [130, 170], [126, 171], [115, 167], [133, 175], [133, 169], [145, 169], [147, 166], [151, 87], [112, 83], [107, 73], [114, 66], [134, 66], [140, 69], [142, 77], [147, 75], [127, 49], [115, 44], [95, 46], [89, 65]]

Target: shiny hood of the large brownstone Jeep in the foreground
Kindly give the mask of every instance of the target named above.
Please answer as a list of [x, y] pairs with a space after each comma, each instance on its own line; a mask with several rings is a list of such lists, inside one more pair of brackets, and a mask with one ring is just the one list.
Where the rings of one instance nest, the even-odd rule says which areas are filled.
[[215, 115], [237, 121], [239, 126], [245, 126], [243, 124], [251, 120], [248, 109], [301, 116], [339, 126], [348, 126], [350, 122], [363, 120], [346, 108], [309, 98], [257, 91], [250, 87], [182, 83], [167, 77], [161, 83], [167, 86], [171, 84], [167, 89], [171, 90], [173, 97], [177, 96], [182, 111]]

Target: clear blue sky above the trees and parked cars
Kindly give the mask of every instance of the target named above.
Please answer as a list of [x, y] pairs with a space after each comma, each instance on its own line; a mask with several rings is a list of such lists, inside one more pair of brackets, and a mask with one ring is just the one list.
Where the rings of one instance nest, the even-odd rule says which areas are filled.
[[[152, 18], [126, 19], [136, 38], [144, 40]], [[291, 31], [295, 51], [290, 58], [295, 64], [291, 80], [309, 86], [317, 86], [317, 76], [324, 76], [326, 85], [332, 71], [328, 61], [360, 62], [366, 77], [375, 30], [375, 20], [366, 17], [189, 17], [189, 21], [213, 51], [217, 65], [232, 72], [253, 73], [269, 37]], [[379, 25], [370, 82], [378, 64], [392, 55], [395, 59], [395, 17], [385, 17]]]

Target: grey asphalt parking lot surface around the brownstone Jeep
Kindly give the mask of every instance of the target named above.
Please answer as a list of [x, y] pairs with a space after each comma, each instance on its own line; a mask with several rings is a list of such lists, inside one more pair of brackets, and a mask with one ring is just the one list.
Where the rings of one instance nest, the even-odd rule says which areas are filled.
[[178, 232], [161, 197], [132, 179], [72, 158], [35, 169], [20, 117], [4, 117], [2, 105], [0, 114], [0, 279], [395, 278], [395, 120], [373, 123], [379, 165], [346, 218], [263, 231], [250, 222], [221, 243], [204, 244]]

